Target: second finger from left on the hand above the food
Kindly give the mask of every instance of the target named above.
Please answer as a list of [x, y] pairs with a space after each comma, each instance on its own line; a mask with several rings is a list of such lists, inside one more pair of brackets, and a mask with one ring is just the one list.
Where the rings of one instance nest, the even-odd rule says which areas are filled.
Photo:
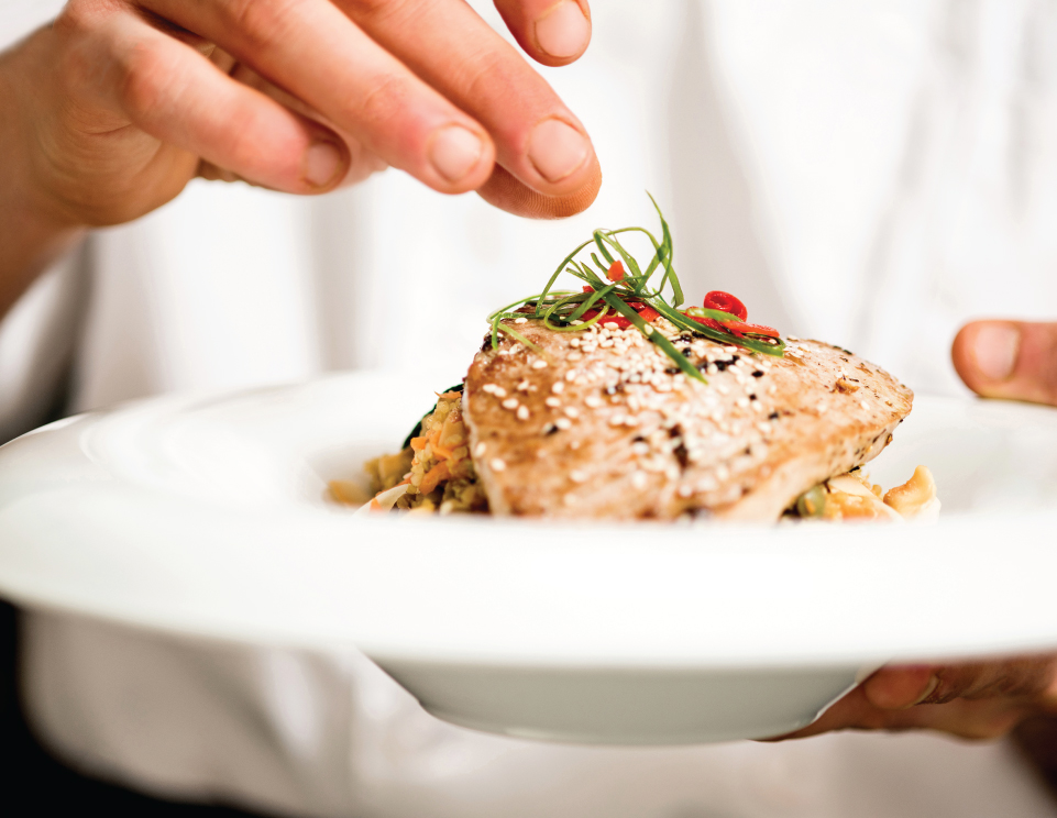
[[481, 125], [327, 0], [143, 4], [218, 43], [436, 190], [473, 190], [492, 173], [495, 148]]

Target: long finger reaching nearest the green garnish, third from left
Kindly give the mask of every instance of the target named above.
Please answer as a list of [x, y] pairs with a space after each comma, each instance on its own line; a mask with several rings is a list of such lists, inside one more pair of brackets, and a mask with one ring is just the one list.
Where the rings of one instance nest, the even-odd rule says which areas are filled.
[[524, 185], [566, 197], [596, 181], [597, 159], [583, 125], [469, 4], [339, 2], [372, 38], [473, 115], [492, 135], [498, 164]]

